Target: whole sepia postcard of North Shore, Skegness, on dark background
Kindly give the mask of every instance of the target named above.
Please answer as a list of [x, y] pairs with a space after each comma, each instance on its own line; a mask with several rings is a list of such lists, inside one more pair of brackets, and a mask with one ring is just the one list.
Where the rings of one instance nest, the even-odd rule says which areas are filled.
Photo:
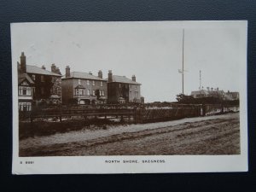
[[13, 23], [11, 43], [13, 172], [246, 171], [247, 21]]

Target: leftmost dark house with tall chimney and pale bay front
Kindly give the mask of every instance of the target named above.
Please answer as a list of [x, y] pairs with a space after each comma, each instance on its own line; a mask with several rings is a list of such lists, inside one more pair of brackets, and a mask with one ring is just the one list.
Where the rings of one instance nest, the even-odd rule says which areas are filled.
[[[18, 62], [18, 79], [20, 110], [31, 110], [29, 106], [43, 103], [61, 103], [61, 72], [55, 64], [52, 65], [51, 71], [46, 70], [44, 66], [26, 65], [26, 55], [22, 52]], [[21, 107], [26, 105], [27, 107]]]

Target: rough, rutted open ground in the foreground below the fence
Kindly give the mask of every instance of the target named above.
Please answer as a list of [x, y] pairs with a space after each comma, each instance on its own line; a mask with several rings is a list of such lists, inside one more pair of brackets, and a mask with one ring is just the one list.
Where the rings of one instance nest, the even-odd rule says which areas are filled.
[[20, 156], [240, 154], [239, 113], [20, 140]]

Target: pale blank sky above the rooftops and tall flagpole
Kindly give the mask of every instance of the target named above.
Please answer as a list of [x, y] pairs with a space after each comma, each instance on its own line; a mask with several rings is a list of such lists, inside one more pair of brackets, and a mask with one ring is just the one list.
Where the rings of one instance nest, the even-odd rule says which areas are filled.
[[[141, 83], [145, 102], [175, 102], [201, 84], [219, 90], [241, 90], [241, 67], [246, 67], [242, 21], [53, 22], [11, 25], [12, 61], [21, 52], [26, 64], [65, 74], [108, 70]], [[184, 29], [184, 47], [183, 47]], [[183, 60], [184, 55], [184, 60]]]

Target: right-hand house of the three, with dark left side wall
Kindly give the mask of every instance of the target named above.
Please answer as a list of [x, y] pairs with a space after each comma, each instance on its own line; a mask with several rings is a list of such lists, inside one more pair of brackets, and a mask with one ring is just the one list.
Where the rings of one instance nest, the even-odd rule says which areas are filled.
[[125, 76], [113, 75], [108, 71], [108, 103], [143, 102], [141, 84], [137, 83], [135, 75], [131, 79]]

